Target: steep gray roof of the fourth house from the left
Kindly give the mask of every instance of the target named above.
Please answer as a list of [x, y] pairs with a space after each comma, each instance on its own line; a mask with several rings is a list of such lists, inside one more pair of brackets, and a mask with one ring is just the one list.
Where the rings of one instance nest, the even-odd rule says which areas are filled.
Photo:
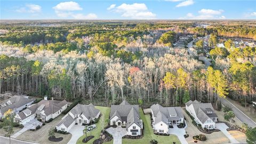
[[139, 105], [130, 105], [127, 101], [123, 101], [120, 105], [111, 105], [110, 119], [117, 116], [118, 120], [126, 122], [126, 129], [133, 123], [142, 127], [139, 115]]

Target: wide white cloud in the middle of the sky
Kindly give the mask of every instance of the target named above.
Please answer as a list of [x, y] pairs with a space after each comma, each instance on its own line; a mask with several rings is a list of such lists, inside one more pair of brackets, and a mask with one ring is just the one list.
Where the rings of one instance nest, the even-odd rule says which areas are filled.
[[[111, 5], [110, 5], [111, 7]], [[108, 7], [108, 8], [110, 8]], [[121, 17], [131, 19], [156, 19], [156, 14], [148, 10], [148, 7], [144, 3], [134, 4], [121, 4], [119, 6], [112, 6], [110, 10], [121, 13]]]

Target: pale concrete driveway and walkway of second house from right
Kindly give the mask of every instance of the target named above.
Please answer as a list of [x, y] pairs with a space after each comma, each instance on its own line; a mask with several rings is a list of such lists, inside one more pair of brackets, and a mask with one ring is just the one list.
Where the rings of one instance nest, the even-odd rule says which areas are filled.
[[[185, 123], [186, 123], [186, 121], [185, 121]], [[186, 134], [186, 131], [185, 131], [185, 129], [186, 129], [186, 127], [187, 127], [187, 123], [186, 123], [186, 126], [184, 127], [184, 128], [178, 128], [177, 127], [177, 125], [173, 125], [173, 128], [170, 128], [169, 129], [169, 133], [170, 134], [174, 134], [174, 135], [177, 135], [177, 137], [179, 138], [179, 140], [180, 140], [180, 143], [185, 143], [185, 144], [187, 144], [188, 142], [187, 142], [187, 140], [185, 139], [185, 137], [184, 137], [184, 135]]]

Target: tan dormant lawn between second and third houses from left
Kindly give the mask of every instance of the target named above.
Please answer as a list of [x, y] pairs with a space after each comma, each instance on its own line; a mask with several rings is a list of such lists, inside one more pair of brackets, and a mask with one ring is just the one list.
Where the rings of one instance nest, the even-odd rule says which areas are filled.
[[55, 127], [60, 121], [61, 118], [64, 115], [60, 115], [57, 118], [53, 119], [50, 123], [45, 123], [44, 126], [42, 126], [40, 129], [36, 131], [29, 131], [23, 132], [21, 135], [19, 135], [16, 139], [23, 140], [23, 141], [30, 141], [30, 142], [36, 142], [36, 143], [63, 143], [66, 144], [70, 138], [71, 134], [60, 134], [55, 133], [55, 137], [59, 138], [62, 137], [63, 140], [60, 142], [52, 142], [48, 140], [48, 131], [51, 129], [51, 127]]

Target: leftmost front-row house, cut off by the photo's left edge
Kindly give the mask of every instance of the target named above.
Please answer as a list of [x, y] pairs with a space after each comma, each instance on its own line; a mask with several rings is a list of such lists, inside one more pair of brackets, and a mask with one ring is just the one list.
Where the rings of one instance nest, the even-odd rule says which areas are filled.
[[34, 101], [35, 99], [29, 99], [26, 95], [14, 95], [2, 101], [0, 103], [0, 119], [4, 117], [4, 113], [9, 109], [12, 109], [13, 113], [19, 113], [19, 111], [30, 106]]

